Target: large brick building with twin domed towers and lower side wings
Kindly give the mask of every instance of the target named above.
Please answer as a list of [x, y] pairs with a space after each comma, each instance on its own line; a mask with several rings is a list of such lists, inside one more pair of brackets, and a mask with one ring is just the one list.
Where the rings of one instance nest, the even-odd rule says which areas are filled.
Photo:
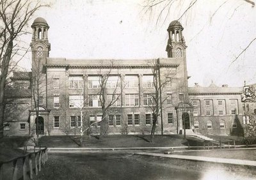
[[[13, 73], [6, 94], [5, 135], [73, 134], [82, 121], [87, 126], [95, 122], [91, 132], [99, 133], [104, 77], [105, 105], [111, 104], [108, 133], [150, 133], [156, 86], [161, 86], [162, 110], [156, 133], [183, 133], [184, 128], [225, 135], [243, 131], [241, 88], [188, 87], [186, 42], [178, 21], [167, 29], [168, 57], [159, 59], [52, 58], [46, 20], [36, 18], [31, 27], [32, 71]], [[13, 112], [13, 105], [22, 114]]]

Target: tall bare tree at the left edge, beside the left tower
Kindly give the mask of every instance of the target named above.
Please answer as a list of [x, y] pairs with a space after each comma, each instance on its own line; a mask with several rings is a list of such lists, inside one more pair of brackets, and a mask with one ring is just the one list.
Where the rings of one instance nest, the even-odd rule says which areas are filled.
[[[21, 0], [0, 1], [0, 137], [3, 137], [4, 120], [4, 87], [6, 78], [17, 61], [28, 52], [28, 49], [19, 46], [19, 37], [28, 33], [25, 29], [28, 21], [36, 10], [41, 8], [40, 3]], [[12, 63], [12, 61], [14, 63]], [[18, 60], [19, 61], [19, 60]], [[13, 66], [11, 66], [13, 64]]]

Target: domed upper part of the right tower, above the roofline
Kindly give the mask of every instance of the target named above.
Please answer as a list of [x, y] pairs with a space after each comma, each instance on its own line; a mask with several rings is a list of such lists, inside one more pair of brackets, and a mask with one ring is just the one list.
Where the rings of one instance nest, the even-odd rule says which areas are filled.
[[186, 41], [182, 35], [183, 27], [180, 22], [173, 20], [167, 31], [168, 31], [168, 43], [166, 46], [166, 52], [168, 57], [184, 57], [186, 49]]

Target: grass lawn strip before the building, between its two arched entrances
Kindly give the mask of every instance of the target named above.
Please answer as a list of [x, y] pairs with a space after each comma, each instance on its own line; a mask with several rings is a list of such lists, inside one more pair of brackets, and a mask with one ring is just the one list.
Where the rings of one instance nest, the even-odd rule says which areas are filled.
[[[47, 147], [80, 147], [79, 136], [45, 136], [40, 138], [40, 146]], [[175, 147], [187, 146], [188, 140], [182, 135], [156, 135], [154, 143], [149, 142], [150, 135], [108, 135], [102, 140], [96, 136], [85, 137], [82, 147]], [[188, 137], [193, 142], [198, 139]], [[189, 144], [191, 144], [189, 142]]]

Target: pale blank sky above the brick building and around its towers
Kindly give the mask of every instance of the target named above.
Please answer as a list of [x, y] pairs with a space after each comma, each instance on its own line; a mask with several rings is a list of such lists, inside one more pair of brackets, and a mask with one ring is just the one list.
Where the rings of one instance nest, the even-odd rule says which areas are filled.
[[[147, 0], [48, 0], [50, 8], [36, 11], [50, 26], [50, 57], [70, 59], [150, 59], [167, 57], [165, 51], [172, 20], [188, 8], [176, 1], [157, 22], [161, 5], [145, 13]], [[243, 0], [198, 0], [179, 20], [184, 27], [189, 86], [241, 87], [256, 83], [256, 7]], [[30, 30], [29, 30], [30, 31]], [[32, 31], [32, 29], [31, 29]], [[31, 34], [24, 36], [31, 41]], [[234, 61], [234, 62], [233, 62]], [[20, 62], [31, 68], [31, 53]]]

